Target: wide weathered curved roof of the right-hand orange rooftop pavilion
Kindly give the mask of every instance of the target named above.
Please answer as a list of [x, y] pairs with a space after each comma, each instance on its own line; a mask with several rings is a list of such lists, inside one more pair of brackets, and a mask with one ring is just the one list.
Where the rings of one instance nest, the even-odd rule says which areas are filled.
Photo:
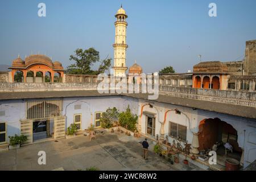
[[193, 72], [228, 72], [228, 67], [221, 61], [205, 61], [194, 65]]

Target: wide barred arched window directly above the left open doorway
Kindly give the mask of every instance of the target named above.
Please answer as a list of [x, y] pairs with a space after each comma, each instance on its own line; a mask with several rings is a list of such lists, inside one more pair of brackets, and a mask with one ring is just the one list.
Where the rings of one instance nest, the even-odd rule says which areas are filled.
[[27, 119], [59, 116], [61, 110], [61, 100], [27, 102]]

